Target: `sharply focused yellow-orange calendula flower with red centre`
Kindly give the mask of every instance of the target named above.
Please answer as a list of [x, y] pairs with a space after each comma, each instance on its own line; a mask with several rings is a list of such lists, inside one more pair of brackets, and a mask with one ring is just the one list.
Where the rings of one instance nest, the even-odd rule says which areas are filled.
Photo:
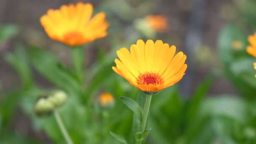
[[177, 83], [187, 69], [183, 52], [175, 55], [176, 47], [169, 47], [162, 40], [155, 43], [138, 40], [130, 51], [121, 48], [117, 51], [116, 67], [112, 69], [128, 80], [131, 85], [146, 93], [156, 93]]

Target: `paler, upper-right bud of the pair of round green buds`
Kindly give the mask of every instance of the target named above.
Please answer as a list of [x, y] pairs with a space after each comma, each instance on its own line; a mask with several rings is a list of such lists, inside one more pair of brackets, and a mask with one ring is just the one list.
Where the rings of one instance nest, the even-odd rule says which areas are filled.
[[48, 101], [51, 101], [55, 106], [61, 106], [67, 100], [67, 94], [64, 91], [53, 91], [48, 97]]

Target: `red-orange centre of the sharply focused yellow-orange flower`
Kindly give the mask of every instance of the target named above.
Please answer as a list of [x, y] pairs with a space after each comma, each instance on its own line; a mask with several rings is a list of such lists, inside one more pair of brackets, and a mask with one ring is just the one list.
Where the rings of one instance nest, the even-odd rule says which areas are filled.
[[144, 74], [139, 75], [137, 78], [137, 83], [140, 85], [149, 85], [150, 83], [157, 85], [157, 84], [163, 84], [163, 79], [162, 77], [153, 72], [146, 72]]

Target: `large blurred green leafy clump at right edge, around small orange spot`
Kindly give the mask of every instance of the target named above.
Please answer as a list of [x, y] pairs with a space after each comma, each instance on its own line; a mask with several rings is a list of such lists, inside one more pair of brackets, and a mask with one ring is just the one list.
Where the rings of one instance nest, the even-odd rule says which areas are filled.
[[[234, 40], [239, 40], [243, 43], [243, 48], [239, 51], [232, 48]], [[255, 99], [254, 59], [246, 53], [245, 47], [247, 45], [246, 36], [237, 27], [228, 24], [221, 29], [218, 47], [224, 74], [243, 97]]]

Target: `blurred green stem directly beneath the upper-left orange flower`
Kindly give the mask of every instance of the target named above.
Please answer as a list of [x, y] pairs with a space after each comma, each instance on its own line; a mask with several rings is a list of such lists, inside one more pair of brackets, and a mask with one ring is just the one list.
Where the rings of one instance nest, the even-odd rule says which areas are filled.
[[72, 56], [71, 60], [72, 60], [73, 68], [74, 68], [75, 74], [77, 75], [81, 83], [83, 82], [83, 79], [84, 79], [84, 70], [83, 70], [84, 59], [85, 59], [84, 52], [85, 50], [83, 46], [71, 48], [71, 56]]

